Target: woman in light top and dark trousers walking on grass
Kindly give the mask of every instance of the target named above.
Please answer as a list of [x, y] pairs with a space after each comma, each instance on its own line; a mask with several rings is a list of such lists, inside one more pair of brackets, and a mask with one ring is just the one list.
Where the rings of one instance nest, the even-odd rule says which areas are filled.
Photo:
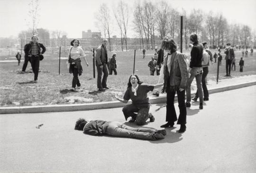
[[[78, 75], [82, 75], [82, 64], [81, 64], [81, 58], [84, 58], [86, 65], [87, 60], [85, 58], [85, 54], [82, 50], [82, 47], [79, 46], [79, 41], [77, 39], [73, 39], [70, 43], [71, 48], [68, 53], [68, 63], [70, 63], [69, 66], [69, 73], [73, 73], [73, 81], [72, 81], [72, 89], [73, 92], [78, 92], [77, 90], [80, 89], [81, 83], [78, 79]], [[77, 86], [77, 88], [76, 88]]]

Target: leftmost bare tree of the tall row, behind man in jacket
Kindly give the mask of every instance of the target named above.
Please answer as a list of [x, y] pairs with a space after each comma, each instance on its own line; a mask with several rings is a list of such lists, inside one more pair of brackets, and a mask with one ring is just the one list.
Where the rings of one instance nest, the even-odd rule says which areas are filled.
[[[101, 24], [101, 27], [104, 30], [104, 33], [107, 32], [110, 43], [110, 9], [107, 4], [103, 3], [100, 6], [98, 13], [95, 14], [95, 19]], [[105, 34], [106, 36], [106, 34]], [[111, 51], [111, 43], [110, 43], [110, 51]]]

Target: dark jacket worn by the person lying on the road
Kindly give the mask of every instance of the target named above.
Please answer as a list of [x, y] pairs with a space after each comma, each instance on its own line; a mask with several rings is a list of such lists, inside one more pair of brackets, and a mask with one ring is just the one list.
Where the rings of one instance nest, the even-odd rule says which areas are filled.
[[83, 127], [83, 132], [88, 135], [102, 136], [107, 133], [110, 121], [93, 120]]

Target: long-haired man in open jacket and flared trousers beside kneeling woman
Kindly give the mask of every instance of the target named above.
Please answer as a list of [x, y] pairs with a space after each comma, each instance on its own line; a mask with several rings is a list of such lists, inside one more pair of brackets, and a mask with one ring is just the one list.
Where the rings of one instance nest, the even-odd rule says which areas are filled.
[[[166, 124], [161, 127], [173, 127], [174, 122], [180, 125], [179, 133], [186, 131], [187, 110], [185, 105], [185, 89], [188, 80], [187, 64], [183, 54], [177, 51], [177, 45], [174, 39], [162, 41], [162, 47], [168, 53], [164, 62], [164, 87], [166, 92]], [[174, 98], [177, 93], [178, 104], [180, 109], [179, 118], [177, 118]]]

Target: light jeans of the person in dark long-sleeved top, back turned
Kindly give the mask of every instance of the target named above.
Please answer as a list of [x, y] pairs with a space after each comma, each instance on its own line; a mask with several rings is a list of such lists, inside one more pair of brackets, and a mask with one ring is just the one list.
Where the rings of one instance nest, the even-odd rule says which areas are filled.
[[199, 101], [203, 102], [203, 92], [202, 92], [202, 67], [193, 67], [190, 71], [190, 77], [187, 82], [187, 88], [186, 88], [186, 93], [187, 93], [187, 102], [191, 101], [191, 83], [194, 78], [196, 78], [196, 87], [199, 95]]

